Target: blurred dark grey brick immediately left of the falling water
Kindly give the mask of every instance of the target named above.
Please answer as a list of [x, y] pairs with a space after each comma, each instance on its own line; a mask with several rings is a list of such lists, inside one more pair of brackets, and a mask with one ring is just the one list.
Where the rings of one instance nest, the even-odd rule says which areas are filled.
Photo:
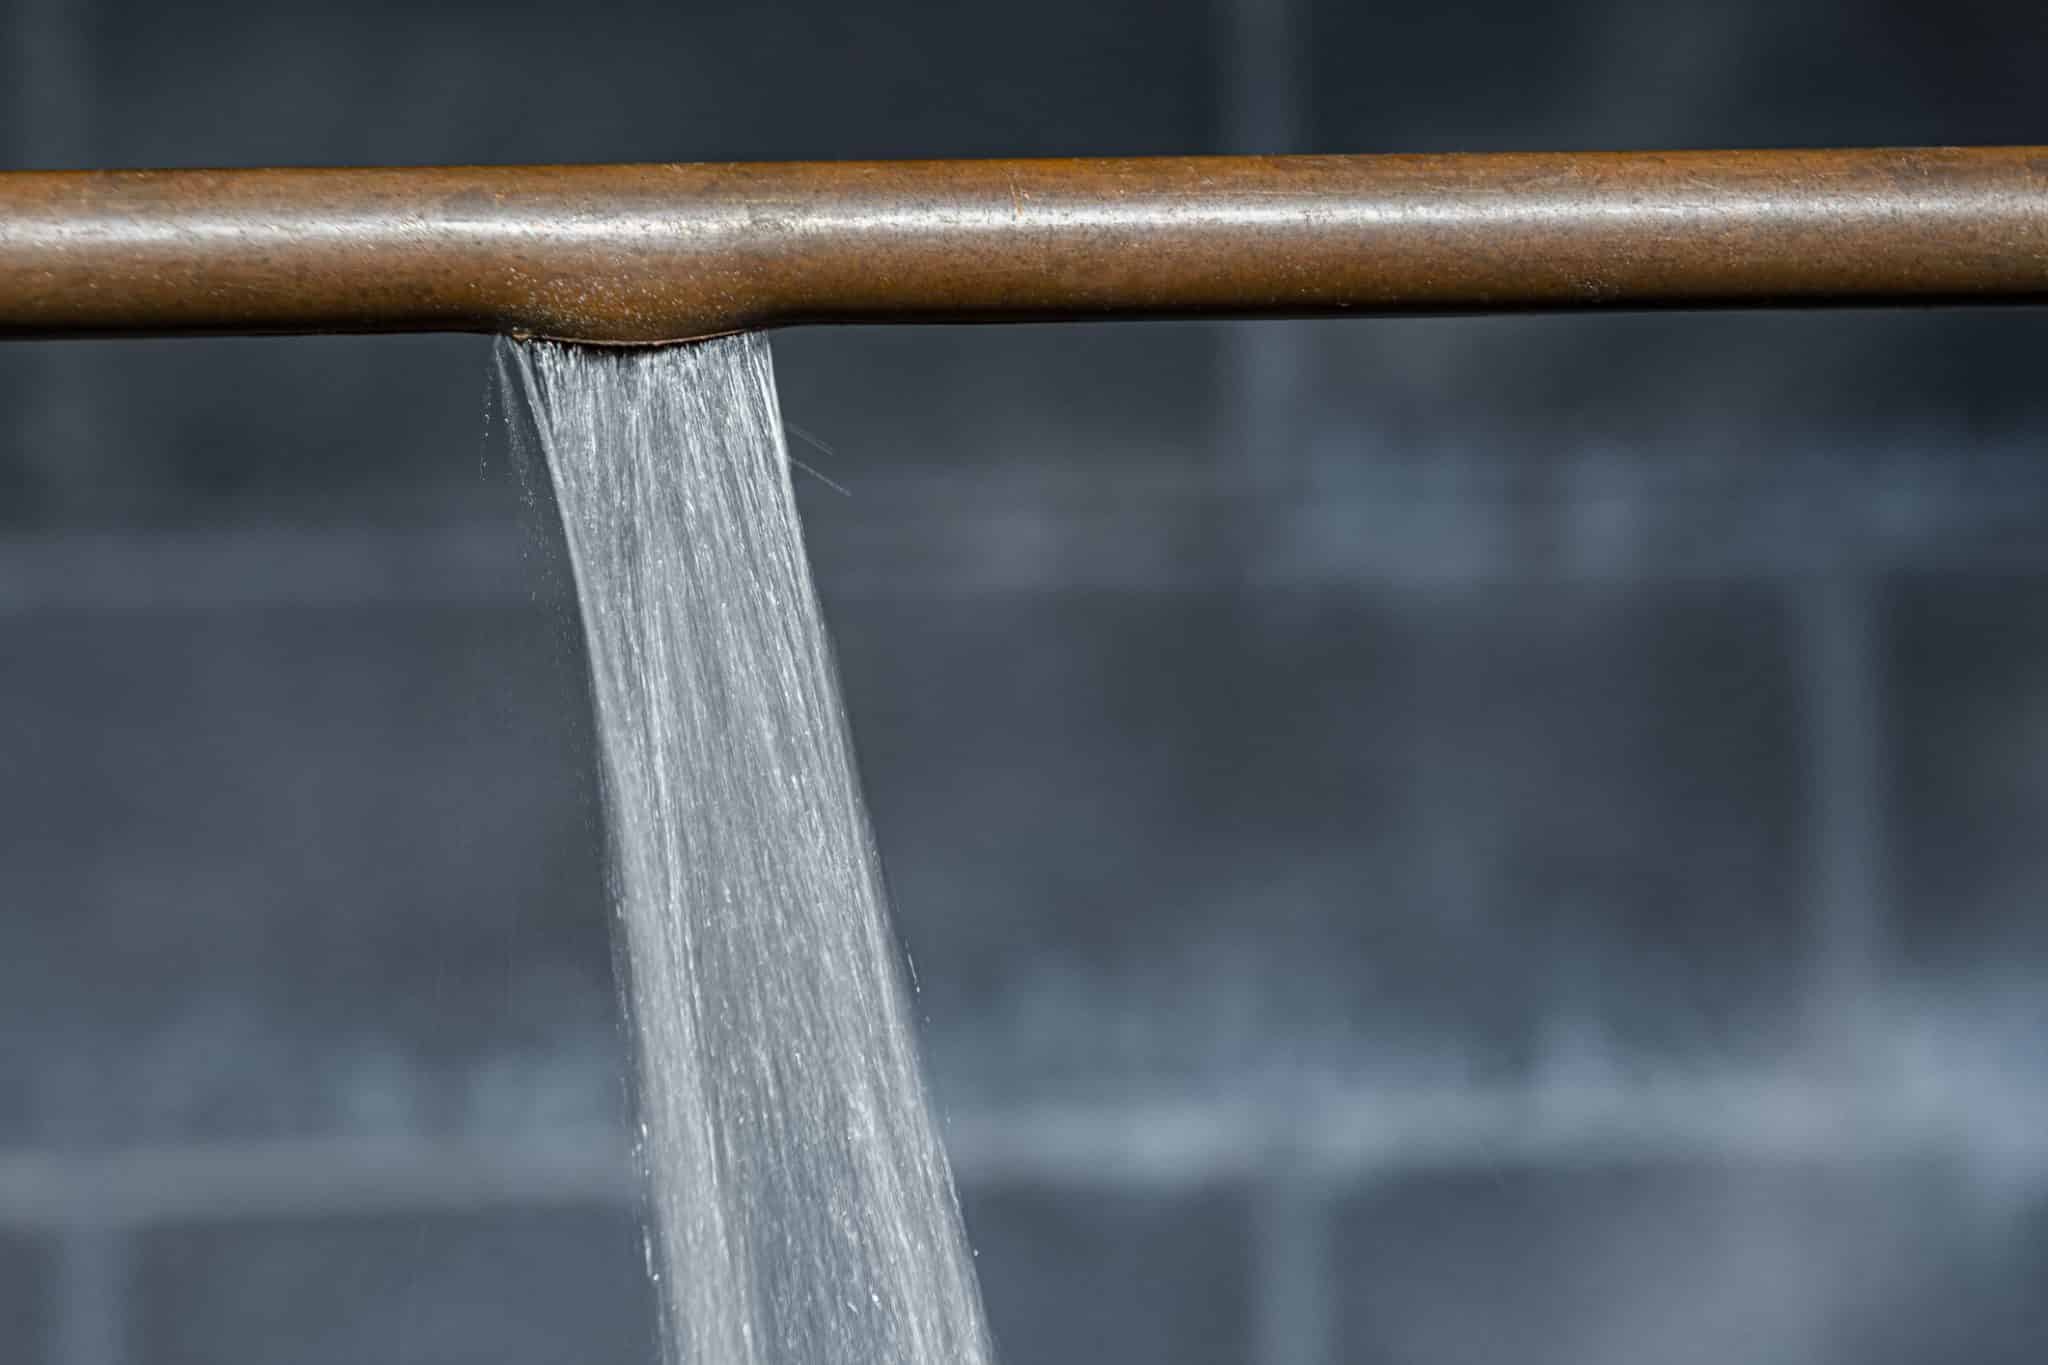
[[[0, 618], [0, 1019], [39, 1040], [0, 1132], [614, 1113], [588, 724], [551, 630], [518, 604]], [[494, 1068], [520, 1111], [477, 1107]]]

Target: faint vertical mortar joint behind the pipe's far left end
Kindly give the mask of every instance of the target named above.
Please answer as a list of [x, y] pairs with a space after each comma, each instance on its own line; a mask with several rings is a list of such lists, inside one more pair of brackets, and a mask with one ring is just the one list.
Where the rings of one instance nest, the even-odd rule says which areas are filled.
[[[18, 170], [92, 166], [92, 0], [12, 0], [6, 20], [6, 135], [0, 156]], [[35, 495], [72, 512], [100, 481], [92, 432], [92, 377], [80, 346], [16, 346], [8, 356], [12, 422]]]

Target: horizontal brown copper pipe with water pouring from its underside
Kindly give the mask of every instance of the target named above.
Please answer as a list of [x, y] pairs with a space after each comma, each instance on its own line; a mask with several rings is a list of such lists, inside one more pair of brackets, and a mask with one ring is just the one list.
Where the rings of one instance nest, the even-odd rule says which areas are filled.
[[0, 336], [2040, 303], [2048, 147], [0, 174]]

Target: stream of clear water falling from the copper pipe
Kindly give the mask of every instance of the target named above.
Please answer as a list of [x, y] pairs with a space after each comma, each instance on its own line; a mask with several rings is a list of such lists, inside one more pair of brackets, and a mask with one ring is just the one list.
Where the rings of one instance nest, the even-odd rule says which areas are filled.
[[768, 344], [504, 344], [590, 645], [672, 1361], [977, 1365]]

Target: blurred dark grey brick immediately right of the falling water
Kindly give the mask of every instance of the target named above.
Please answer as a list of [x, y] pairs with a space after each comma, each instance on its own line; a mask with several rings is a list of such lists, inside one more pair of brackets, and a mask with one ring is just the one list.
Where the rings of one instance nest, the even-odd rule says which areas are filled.
[[1802, 978], [1767, 593], [840, 604], [942, 1093], [1198, 1093], [1767, 1031]]

